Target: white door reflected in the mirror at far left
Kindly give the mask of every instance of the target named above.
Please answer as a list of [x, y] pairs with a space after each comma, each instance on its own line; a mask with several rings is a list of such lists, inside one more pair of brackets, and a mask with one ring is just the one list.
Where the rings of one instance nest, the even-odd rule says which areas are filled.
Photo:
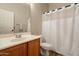
[[0, 34], [12, 33], [14, 28], [14, 13], [0, 9]]

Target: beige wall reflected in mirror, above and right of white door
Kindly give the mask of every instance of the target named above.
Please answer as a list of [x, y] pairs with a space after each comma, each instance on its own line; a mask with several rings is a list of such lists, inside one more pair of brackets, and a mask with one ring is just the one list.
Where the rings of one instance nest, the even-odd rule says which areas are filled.
[[[15, 32], [17, 32], [16, 24], [26, 24], [24, 27], [27, 28], [27, 19], [30, 17], [30, 6], [28, 4], [0, 4], [0, 9], [12, 11], [15, 14]], [[26, 30], [24, 30], [26, 31]]]

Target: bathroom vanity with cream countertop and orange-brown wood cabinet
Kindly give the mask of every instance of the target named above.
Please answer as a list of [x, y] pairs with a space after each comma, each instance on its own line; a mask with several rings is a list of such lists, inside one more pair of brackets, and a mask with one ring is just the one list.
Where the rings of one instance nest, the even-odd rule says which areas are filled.
[[40, 36], [24, 35], [22, 38], [5, 38], [0, 41], [0, 56], [39, 56]]

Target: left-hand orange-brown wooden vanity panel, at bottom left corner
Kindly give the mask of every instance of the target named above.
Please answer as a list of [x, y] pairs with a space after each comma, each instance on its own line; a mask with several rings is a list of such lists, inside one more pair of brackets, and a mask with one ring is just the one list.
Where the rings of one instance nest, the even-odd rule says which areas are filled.
[[0, 56], [25, 56], [27, 55], [27, 44], [20, 44], [0, 51]]

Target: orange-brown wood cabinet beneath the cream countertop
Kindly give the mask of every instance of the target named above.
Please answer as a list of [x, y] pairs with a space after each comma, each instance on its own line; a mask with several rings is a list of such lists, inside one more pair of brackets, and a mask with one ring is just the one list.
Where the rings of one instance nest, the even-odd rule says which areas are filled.
[[0, 50], [0, 56], [39, 56], [40, 39], [35, 39], [4, 50]]

